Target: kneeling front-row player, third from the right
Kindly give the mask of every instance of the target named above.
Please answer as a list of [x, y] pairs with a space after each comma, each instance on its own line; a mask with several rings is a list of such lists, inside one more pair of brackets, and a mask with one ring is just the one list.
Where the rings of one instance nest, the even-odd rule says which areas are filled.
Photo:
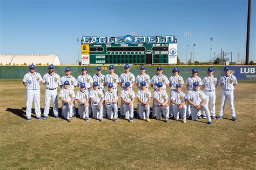
[[161, 112], [165, 117], [165, 122], [169, 123], [169, 105], [168, 105], [168, 95], [165, 90], [163, 90], [163, 83], [157, 83], [157, 91], [154, 91], [154, 113], [157, 115], [157, 120], [161, 119]]

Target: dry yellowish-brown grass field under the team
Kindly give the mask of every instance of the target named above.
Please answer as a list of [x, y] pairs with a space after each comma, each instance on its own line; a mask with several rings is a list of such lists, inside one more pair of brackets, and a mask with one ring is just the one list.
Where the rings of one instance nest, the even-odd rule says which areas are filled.
[[[55, 119], [52, 110], [47, 120], [37, 120], [32, 114], [32, 120], [26, 121], [22, 80], [0, 80], [0, 89], [1, 169], [256, 167], [253, 82], [239, 82], [235, 89], [238, 122], [231, 120], [227, 102], [224, 119], [213, 120], [212, 126], [205, 119], [187, 120], [186, 124], [181, 119], [171, 120], [168, 124], [155, 119], [150, 123], [118, 119], [114, 123], [107, 119], [85, 122], [75, 118], [68, 123]], [[42, 113], [44, 90], [42, 86]], [[218, 113], [219, 86], [216, 93]], [[59, 101], [59, 111], [60, 108]]]

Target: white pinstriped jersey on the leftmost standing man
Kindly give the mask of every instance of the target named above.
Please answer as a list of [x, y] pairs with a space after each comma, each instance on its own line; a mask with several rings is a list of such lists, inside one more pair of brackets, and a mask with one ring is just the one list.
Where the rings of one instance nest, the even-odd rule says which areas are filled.
[[26, 73], [23, 77], [23, 82], [26, 83], [26, 89], [28, 90], [37, 90], [40, 89], [39, 81], [42, 81], [42, 77], [39, 73], [35, 72], [34, 74]]

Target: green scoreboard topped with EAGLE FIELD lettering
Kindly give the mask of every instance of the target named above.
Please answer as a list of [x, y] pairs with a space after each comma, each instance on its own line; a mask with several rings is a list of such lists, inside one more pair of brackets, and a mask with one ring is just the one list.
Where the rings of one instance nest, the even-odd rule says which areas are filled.
[[174, 36], [85, 37], [82, 64], [177, 64]]

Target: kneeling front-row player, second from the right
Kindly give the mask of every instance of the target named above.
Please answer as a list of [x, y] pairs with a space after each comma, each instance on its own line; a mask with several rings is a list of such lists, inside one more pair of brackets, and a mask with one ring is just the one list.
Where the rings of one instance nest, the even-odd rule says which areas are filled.
[[187, 106], [185, 105], [185, 94], [181, 92], [181, 86], [181, 84], [176, 84], [176, 90], [172, 90], [170, 100], [172, 101], [174, 119], [178, 120], [180, 114], [183, 123], [186, 123]]

